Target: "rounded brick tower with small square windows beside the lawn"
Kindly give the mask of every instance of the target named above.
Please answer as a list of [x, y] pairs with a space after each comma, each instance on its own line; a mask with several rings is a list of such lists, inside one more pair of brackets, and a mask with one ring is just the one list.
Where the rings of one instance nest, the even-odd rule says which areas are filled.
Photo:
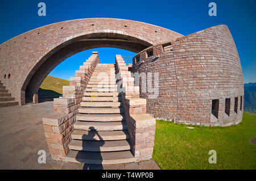
[[[154, 55], [148, 57], [150, 49]], [[133, 71], [159, 72], [159, 97], [148, 99], [148, 93], [141, 93], [147, 98], [148, 113], [175, 123], [207, 126], [242, 120], [242, 69], [227, 26], [211, 27], [147, 48], [138, 56], [141, 61], [134, 62]]]

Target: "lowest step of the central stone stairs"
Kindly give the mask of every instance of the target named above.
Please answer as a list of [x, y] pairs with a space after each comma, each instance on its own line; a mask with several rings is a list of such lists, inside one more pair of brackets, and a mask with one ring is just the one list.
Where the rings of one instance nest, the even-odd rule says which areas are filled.
[[112, 151], [100, 153], [70, 150], [64, 159], [65, 162], [111, 165], [135, 162], [137, 158], [134, 157], [131, 151]]

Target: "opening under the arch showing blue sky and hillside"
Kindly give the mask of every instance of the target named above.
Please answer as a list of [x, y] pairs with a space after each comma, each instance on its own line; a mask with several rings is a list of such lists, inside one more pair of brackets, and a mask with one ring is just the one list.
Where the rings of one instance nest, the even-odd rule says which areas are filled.
[[[114, 64], [116, 54], [122, 54], [126, 64], [132, 64], [132, 58], [136, 54], [118, 48], [94, 48], [76, 53], [57, 65], [47, 75], [38, 90], [38, 102], [51, 101], [53, 98], [62, 96], [62, 86], [69, 85], [69, 78], [75, 77], [75, 70], [79, 70], [85, 60], [92, 55], [92, 52], [98, 52], [101, 64]], [[32, 100], [27, 101], [27, 103], [31, 102]]]

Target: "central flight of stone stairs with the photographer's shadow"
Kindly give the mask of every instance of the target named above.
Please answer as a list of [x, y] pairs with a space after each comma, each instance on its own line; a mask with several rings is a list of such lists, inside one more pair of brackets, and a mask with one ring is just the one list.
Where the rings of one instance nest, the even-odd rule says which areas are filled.
[[[101, 85], [99, 74], [109, 81]], [[117, 164], [134, 162], [122, 99], [117, 92], [114, 64], [97, 64], [73, 125], [67, 162]]]

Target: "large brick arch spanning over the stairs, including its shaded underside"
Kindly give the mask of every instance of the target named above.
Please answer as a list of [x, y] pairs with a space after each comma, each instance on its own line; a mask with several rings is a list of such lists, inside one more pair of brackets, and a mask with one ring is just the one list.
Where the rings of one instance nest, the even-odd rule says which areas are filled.
[[[140, 52], [181, 37], [166, 28], [124, 19], [91, 18], [49, 24], [0, 45], [0, 79], [20, 104], [31, 99], [61, 61], [82, 50], [114, 47]], [[10, 78], [4, 75], [10, 74]], [[26, 94], [25, 94], [26, 91]]]

